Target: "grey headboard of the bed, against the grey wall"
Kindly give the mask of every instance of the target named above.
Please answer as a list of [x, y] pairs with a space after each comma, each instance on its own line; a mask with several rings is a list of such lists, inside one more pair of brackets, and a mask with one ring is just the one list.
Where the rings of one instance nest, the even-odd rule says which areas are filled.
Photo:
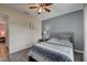
[[50, 39], [58, 37], [59, 35], [70, 35], [69, 40], [74, 43], [74, 33], [73, 32], [51, 32]]

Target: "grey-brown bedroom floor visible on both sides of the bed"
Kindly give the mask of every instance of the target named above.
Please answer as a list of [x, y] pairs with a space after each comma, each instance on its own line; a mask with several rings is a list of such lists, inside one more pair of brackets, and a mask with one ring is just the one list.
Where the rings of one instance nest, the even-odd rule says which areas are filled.
[[[4, 57], [2, 62], [28, 62], [29, 61], [29, 51], [30, 48], [10, 54], [9, 58]], [[83, 54], [75, 53], [75, 62], [81, 62], [83, 61]]]

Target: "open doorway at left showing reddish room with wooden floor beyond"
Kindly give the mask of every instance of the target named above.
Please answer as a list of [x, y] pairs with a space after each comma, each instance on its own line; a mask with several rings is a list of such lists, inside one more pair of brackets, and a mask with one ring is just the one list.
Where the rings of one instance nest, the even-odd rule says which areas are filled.
[[0, 14], [0, 61], [8, 58], [8, 17]]

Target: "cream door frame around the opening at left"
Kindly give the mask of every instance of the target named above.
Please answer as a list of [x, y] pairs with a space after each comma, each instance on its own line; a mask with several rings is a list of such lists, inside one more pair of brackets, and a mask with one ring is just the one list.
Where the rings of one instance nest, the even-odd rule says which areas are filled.
[[8, 14], [4, 13], [0, 13], [0, 15], [3, 17], [4, 21], [6, 21], [6, 44], [8, 46], [8, 61], [10, 61], [10, 18]]

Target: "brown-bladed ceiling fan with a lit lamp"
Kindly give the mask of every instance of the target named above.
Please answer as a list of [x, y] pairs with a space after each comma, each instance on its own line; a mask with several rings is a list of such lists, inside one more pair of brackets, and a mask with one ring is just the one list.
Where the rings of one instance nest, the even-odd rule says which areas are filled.
[[44, 11], [51, 12], [50, 7], [52, 4], [53, 3], [35, 3], [35, 7], [30, 7], [30, 9], [35, 9], [37, 13], [41, 14]]

